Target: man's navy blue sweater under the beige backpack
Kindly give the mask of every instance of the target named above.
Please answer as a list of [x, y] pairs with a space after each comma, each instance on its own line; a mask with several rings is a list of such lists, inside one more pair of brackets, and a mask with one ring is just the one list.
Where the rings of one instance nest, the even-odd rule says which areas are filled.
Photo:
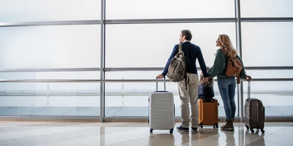
[[[197, 74], [197, 69], [196, 69], [196, 58], [198, 59], [198, 62], [200, 64], [200, 69], [203, 72], [203, 76], [207, 77], [207, 67], [205, 66], [205, 60], [203, 59], [202, 52], [200, 50], [199, 46], [196, 46], [195, 44], [190, 43], [189, 41], [185, 41], [181, 43], [182, 45], [182, 51], [184, 53], [184, 56], [186, 58], [186, 70], [187, 73], [191, 74]], [[179, 45], [175, 45], [173, 48], [173, 51], [171, 53], [171, 56], [168, 59], [168, 62], [165, 66], [165, 69], [162, 73], [163, 76], [166, 76], [168, 73], [168, 67], [169, 64], [172, 60], [172, 58], [178, 53], [179, 50]]]

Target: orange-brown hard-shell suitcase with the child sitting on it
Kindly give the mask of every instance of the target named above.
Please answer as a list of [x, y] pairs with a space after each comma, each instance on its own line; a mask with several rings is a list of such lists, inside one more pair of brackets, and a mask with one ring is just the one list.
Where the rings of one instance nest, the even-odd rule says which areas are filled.
[[218, 100], [214, 98], [203, 98], [198, 100], [198, 125], [202, 128], [202, 125], [211, 125], [219, 128], [218, 118]]

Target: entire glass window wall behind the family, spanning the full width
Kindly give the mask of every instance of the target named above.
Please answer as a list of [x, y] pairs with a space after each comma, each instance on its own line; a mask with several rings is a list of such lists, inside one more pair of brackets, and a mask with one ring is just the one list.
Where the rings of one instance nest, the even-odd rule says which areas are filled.
[[[163, 71], [180, 31], [189, 29], [208, 67], [219, 34], [227, 34], [246, 73], [259, 79], [251, 97], [263, 101], [266, 116], [292, 116], [292, 6], [291, 0], [0, 0], [0, 115], [147, 117], [156, 83], [145, 79]], [[177, 83], [167, 82], [166, 90], [180, 117]], [[214, 91], [224, 117], [217, 83]], [[243, 92], [236, 88], [236, 117], [246, 97], [244, 81]]]

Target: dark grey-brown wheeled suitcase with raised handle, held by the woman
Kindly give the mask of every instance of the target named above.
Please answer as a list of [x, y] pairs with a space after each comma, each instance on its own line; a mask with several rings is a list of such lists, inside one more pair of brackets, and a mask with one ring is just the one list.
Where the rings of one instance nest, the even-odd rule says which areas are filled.
[[265, 125], [265, 107], [263, 103], [256, 99], [250, 98], [250, 79], [248, 79], [248, 93], [244, 106], [244, 122], [247, 129], [251, 133], [254, 132], [253, 128], [260, 129], [262, 133]]

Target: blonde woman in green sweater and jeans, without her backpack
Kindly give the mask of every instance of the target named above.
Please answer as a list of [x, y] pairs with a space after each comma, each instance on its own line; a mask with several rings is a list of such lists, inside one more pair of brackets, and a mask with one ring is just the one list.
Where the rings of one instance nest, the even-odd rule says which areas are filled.
[[229, 79], [229, 77], [225, 75], [226, 67], [228, 65], [228, 59], [237, 57], [241, 61], [241, 79], [247, 80], [247, 78], [251, 78], [251, 76], [246, 75], [243, 62], [241, 58], [237, 55], [236, 49], [233, 48], [229, 36], [227, 36], [226, 34], [220, 34], [216, 42], [216, 46], [219, 46], [220, 48], [217, 50], [214, 65], [207, 72], [207, 74], [209, 78], [214, 78], [217, 76], [219, 91], [224, 102], [226, 124], [221, 126], [221, 129], [234, 130], [233, 121], [236, 111], [236, 105], [234, 100], [236, 79], [235, 77], [230, 77]]

